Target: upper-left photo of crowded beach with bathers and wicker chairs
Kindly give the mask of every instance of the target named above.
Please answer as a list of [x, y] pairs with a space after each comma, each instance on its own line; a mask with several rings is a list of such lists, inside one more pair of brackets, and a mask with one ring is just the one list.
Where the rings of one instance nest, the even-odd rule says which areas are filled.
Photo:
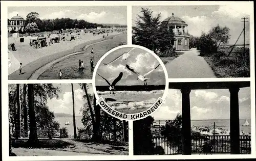
[[92, 79], [110, 49], [127, 44], [126, 6], [8, 8], [9, 79]]

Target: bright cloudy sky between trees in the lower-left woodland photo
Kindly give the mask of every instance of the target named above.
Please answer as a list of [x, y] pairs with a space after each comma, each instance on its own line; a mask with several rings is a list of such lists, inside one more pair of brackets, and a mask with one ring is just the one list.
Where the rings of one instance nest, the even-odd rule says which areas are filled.
[[[84, 91], [80, 88], [78, 84], [74, 85], [74, 99], [75, 99], [75, 115], [81, 116], [80, 108], [83, 106], [83, 95]], [[93, 94], [92, 84], [88, 84], [88, 93]], [[73, 115], [73, 105], [72, 105], [72, 91], [71, 84], [53, 84], [53, 86], [58, 86], [61, 90], [59, 93], [59, 98], [52, 98], [47, 100], [47, 105], [50, 111], [54, 113], [65, 113]]]

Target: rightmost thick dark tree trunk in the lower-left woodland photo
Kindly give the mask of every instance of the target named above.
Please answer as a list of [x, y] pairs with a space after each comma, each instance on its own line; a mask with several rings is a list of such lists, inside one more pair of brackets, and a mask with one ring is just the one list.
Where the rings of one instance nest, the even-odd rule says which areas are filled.
[[94, 112], [95, 112], [95, 131], [96, 131], [96, 140], [98, 142], [101, 141], [101, 131], [100, 131], [100, 105], [96, 105], [96, 97], [93, 94], [93, 100], [94, 100]]

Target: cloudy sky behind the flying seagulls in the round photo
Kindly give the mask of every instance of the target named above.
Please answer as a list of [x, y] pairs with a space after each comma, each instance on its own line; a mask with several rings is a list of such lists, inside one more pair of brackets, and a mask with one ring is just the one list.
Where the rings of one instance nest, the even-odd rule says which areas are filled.
[[[123, 72], [123, 76], [116, 86], [144, 85], [142, 81], [137, 80], [138, 75], [127, 69], [125, 64], [132, 67], [138, 73], [144, 75], [148, 71], [157, 67], [160, 63], [151, 53], [148, 53], [143, 49], [131, 49], [133, 48], [125, 47], [111, 52], [100, 63], [97, 69], [97, 74], [100, 74], [112, 83], [119, 73]], [[129, 52], [129, 50], [131, 51]], [[128, 53], [121, 56], [124, 52]], [[119, 56], [121, 56], [120, 59], [117, 59], [113, 63], [108, 65], [103, 64], [109, 63]], [[161, 65], [146, 77], [150, 78], [147, 80], [147, 85], [165, 85], [165, 75]], [[96, 86], [108, 86], [105, 80], [99, 75], [96, 75], [95, 84]]]

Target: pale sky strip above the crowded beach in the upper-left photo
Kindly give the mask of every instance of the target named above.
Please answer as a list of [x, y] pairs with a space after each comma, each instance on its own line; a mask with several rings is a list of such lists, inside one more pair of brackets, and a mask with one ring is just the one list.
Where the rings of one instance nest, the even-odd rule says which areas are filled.
[[8, 18], [18, 14], [26, 19], [30, 12], [37, 12], [40, 19], [71, 18], [93, 23], [127, 24], [126, 6], [9, 7]]

